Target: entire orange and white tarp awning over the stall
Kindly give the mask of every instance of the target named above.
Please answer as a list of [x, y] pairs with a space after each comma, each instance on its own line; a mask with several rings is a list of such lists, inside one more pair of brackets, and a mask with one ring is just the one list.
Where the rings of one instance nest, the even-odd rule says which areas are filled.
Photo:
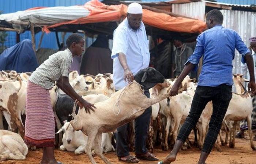
[[[124, 4], [105, 5], [98, 0], [91, 0], [80, 6], [36, 7], [25, 11], [2, 14], [0, 20], [7, 22], [11, 22], [11, 20], [30, 21], [43, 27], [43, 31], [50, 32], [50, 28], [65, 24], [120, 22], [126, 16], [127, 8]], [[206, 24], [201, 20], [173, 17], [166, 13], [153, 12], [147, 9], [143, 9], [143, 22], [148, 26], [174, 32], [200, 33], [206, 28]], [[22, 28], [25, 29], [26, 27]]]

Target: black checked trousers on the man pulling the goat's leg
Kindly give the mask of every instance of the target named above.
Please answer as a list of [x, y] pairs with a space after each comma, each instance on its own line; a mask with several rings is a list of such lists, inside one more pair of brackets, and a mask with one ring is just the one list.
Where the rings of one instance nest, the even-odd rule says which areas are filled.
[[201, 116], [206, 104], [209, 101], [212, 101], [212, 116], [202, 149], [203, 152], [210, 154], [211, 149], [217, 140], [231, 98], [232, 86], [225, 84], [217, 87], [198, 86], [193, 97], [189, 115], [180, 129], [177, 140], [185, 142], [191, 133], [192, 128], [196, 125]]

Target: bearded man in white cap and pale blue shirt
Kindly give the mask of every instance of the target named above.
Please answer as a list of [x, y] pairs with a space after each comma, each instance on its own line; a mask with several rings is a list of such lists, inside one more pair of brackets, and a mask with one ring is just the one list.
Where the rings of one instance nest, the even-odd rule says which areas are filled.
[[[127, 18], [119, 24], [113, 35], [113, 83], [116, 90], [121, 90], [133, 81], [133, 75], [149, 65], [150, 54], [145, 26], [142, 22], [142, 6], [132, 3], [128, 6]], [[144, 94], [149, 98], [150, 93]], [[135, 119], [135, 155], [129, 155], [126, 141], [127, 124], [117, 128], [116, 150], [120, 161], [138, 163], [139, 160], [158, 160], [148, 152], [146, 140], [152, 108]]]

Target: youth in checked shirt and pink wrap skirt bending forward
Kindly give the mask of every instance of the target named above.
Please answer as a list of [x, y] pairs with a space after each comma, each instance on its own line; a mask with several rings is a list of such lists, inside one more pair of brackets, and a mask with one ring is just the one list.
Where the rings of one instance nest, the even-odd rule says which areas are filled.
[[54, 83], [72, 99], [78, 100], [80, 108], [86, 113], [95, 108], [80, 97], [68, 82], [72, 57], [84, 51], [84, 39], [78, 34], [68, 36], [67, 49], [59, 51], [45, 60], [30, 76], [27, 83], [25, 143], [43, 147], [41, 164], [59, 164], [54, 156], [55, 118], [50, 101], [49, 90]]

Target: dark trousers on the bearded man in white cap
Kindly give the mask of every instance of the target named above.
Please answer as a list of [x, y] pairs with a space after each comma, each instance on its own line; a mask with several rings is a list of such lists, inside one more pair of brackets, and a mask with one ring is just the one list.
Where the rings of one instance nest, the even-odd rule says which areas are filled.
[[[148, 90], [144, 91], [144, 94], [150, 98]], [[148, 152], [146, 148], [146, 140], [148, 135], [148, 128], [150, 118], [152, 114], [151, 106], [144, 111], [142, 115], [135, 119], [135, 153], [137, 155], [146, 154]], [[129, 155], [129, 147], [126, 141], [127, 139], [127, 127], [128, 124], [117, 128], [116, 133], [116, 151], [118, 157], [124, 157]]]

